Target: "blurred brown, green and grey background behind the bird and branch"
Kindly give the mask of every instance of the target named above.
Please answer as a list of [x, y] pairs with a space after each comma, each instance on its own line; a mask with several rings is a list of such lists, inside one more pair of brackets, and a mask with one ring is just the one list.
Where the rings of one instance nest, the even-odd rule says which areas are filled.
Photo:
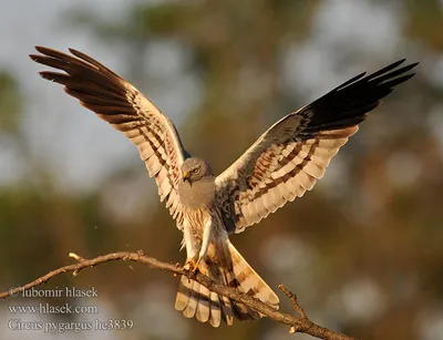
[[[391, 94], [302, 199], [231, 237], [319, 324], [361, 339], [443, 339], [442, 0], [0, 1], [0, 290], [136, 251], [183, 262], [182, 234], [136, 147], [38, 75], [33, 45], [91, 54], [144, 92], [216, 173], [270, 124], [362, 71], [408, 58]], [[226, 143], [228, 141], [228, 143]], [[14, 315], [0, 339], [308, 339], [269, 320], [213, 329], [174, 310], [177, 279], [111, 262], [44, 289], [95, 287], [97, 315]], [[293, 312], [280, 295], [281, 309]], [[11, 319], [127, 319], [131, 331], [12, 331]], [[311, 338], [309, 338], [311, 339]]]

